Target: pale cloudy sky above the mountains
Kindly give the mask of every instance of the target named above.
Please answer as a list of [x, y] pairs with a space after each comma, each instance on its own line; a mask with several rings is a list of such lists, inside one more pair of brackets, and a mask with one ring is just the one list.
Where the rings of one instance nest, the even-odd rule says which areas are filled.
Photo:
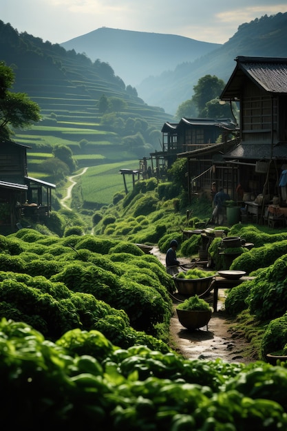
[[3, 23], [51, 43], [102, 27], [225, 43], [239, 25], [279, 12], [286, 0], [0, 0]]

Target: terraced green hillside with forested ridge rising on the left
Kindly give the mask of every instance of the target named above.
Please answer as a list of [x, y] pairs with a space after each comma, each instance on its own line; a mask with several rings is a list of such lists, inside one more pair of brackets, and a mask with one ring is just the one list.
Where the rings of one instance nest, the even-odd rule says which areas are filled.
[[0, 52], [15, 73], [12, 91], [28, 94], [43, 116], [32, 129], [15, 131], [18, 143], [45, 154], [55, 144], [67, 145], [81, 155], [80, 167], [134, 160], [160, 148], [160, 129], [171, 116], [138, 98], [109, 64], [19, 34], [2, 21]]

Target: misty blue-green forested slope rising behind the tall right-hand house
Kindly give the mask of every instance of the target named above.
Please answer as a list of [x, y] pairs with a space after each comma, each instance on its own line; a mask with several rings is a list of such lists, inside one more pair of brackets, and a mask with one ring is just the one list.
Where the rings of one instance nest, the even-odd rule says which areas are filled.
[[250, 23], [240, 25], [237, 32], [220, 48], [209, 52], [193, 63], [183, 63], [173, 71], [149, 77], [137, 85], [139, 96], [145, 101], [162, 106], [175, 114], [180, 103], [193, 95], [193, 86], [206, 74], [228, 81], [237, 56], [287, 56], [287, 12], [270, 17], [266, 15]]

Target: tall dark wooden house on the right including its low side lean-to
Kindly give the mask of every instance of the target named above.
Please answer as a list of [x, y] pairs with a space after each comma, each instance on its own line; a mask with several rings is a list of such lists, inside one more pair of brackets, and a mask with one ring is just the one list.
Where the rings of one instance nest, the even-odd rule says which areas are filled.
[[[239, 107], [237, 138], [225, 148], [222, 143], [178, 156], [189, 160], [189, 183], [195, 183], [191, 193], [209, 187], [210, 178], [204, 169], [198, 174], [192, 161], [209, 151], [212, 179], [232, 199], [239, 198], [241, 187], [249, 199], [262, 194], [263, 199], [271, 200], [282, 191], [286, 194], [279, 184], [287, 169], [287, 59], [238, 56], [235, 61], [220, 100]], [[279, 198], [286, 197], [281, 193]]]

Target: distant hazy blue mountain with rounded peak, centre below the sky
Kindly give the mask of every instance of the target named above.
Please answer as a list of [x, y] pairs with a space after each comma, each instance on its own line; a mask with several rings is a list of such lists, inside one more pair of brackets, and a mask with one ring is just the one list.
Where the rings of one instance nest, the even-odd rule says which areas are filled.
[[173, 70], [185, 61], [219, 48], [219, 43], [195, 41], [173, 34], [98, 28], [60, 44], [65, 50], [85, 53], [92, 61], [109, 63], [126, 85], [136, 86], [148, 76]]

